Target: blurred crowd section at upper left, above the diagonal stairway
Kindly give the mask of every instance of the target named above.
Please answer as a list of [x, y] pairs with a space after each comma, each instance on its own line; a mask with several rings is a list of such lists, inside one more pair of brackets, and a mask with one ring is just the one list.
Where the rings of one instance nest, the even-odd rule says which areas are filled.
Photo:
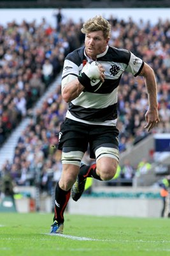
[[35, 20], [0, 25], [0, 145], [59, 74], [66, 54], [80, 45], [75, 31], [73, 24], [56, 31], [45, 18], [38, 26]]

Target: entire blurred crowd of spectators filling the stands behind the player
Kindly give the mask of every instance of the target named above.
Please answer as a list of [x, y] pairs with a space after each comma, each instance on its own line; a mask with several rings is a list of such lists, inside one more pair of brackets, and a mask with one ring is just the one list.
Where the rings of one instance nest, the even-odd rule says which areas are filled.
[[[131, 18], [127, 22], [114, 17], [109, 20], [110, 45], [132, 51], [155, 71], [161, 122], [152, 132], [170, 132], [170, 20], [158, 20], [155, 25]], [[31, 115], [12, 163], [6, 160], [1, 168], [1, 176], [10, 173], [18, 186], [39, 184], [41, 191], [50, 193], [52, 182], [59, 180], [57, 134], [67, 109], [60, 85], [36, 113], [31, 108], [59, 74], [66, 54], [83, 44], [82, 22], [62, 23], [60, 19], [59, 26], [52, 28], [42, 19], [38, 26], [36, 21], [0, 26], [0, 145], [22, 118]], [[144, 129], [147, 108], [143, 77], [125, 73], [118, 92], [120, 154], [148, 136]], [[134, 176], [134, 166], [126, 163], [121, 170], [123, 177]]]

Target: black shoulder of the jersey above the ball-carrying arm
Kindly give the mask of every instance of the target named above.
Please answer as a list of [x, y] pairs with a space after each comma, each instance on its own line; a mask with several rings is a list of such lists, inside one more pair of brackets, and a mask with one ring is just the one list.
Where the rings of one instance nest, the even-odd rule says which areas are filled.
[[78, 49], [75, 49], [73, 52], [70, 52], [69, 54], [67, 54], [65, 60], [72, 61], [73, 63], [79, 66], [82, 63], [82, 61], [85, 59], [84, 49], [85, 47], [80, 47]]

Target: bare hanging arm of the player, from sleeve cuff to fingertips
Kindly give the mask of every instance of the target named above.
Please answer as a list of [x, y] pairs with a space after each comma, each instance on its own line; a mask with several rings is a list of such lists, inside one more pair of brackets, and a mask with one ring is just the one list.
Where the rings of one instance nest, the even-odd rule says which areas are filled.
[[146, 125], [145, 128], [150, 131], [160, 121], [157, 104], [157, 83], [155, 81], [155, 74], [153, 69], [145, 63], [141, 70], [140, 76], [145, 79], [145, 85], [148, 93], [149, 108], [145, 114]]

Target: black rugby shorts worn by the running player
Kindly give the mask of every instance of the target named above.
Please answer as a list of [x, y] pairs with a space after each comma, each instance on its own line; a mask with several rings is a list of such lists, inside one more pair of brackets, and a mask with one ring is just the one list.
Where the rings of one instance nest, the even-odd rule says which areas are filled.
[[96, 149], [118, 149], [118, 129], [115, 126], [89, 125], [66, 118], [60, 126], [59, 150], [86, 152], [90, 146], [90, 158], [95, 158]]

